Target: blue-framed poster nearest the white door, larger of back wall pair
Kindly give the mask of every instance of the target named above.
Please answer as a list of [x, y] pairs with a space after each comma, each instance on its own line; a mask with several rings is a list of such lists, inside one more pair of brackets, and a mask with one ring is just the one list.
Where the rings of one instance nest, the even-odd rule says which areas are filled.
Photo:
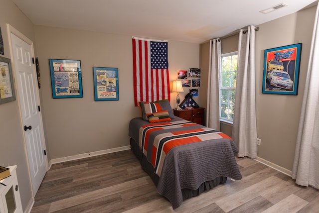
[[81, 62], [49, 59], [53, 99], [83, 98]]

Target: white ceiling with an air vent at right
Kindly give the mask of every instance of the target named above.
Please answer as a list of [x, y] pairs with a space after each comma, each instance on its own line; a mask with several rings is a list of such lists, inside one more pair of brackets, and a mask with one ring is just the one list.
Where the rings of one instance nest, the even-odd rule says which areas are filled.
[[[202, 43], [317, 0], [12, 0], [35, 25]], [[268, 14], [259, 11], [280, 3]]]

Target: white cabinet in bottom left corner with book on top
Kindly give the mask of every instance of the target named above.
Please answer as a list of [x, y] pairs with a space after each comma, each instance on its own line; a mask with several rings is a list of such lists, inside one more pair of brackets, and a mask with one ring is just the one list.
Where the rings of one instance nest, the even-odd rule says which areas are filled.
[[22, 213], [16, 166], [7, 168], [10, 169], [11, 176], [0, 180], [0, 213]]

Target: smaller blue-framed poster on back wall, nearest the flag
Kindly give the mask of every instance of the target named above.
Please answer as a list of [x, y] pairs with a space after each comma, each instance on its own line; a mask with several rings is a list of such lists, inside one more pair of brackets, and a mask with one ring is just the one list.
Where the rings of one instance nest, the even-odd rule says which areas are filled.
[[118, 68], [93, 67], [95, 101], [119, 100]]

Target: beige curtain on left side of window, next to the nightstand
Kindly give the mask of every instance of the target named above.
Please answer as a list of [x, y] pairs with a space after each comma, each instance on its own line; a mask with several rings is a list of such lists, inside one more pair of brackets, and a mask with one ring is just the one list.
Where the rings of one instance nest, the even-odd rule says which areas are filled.
[[206, 126], [220, 131], [219, 124], [219, 70], [221, 59], [220, 39], [210, 40]]

